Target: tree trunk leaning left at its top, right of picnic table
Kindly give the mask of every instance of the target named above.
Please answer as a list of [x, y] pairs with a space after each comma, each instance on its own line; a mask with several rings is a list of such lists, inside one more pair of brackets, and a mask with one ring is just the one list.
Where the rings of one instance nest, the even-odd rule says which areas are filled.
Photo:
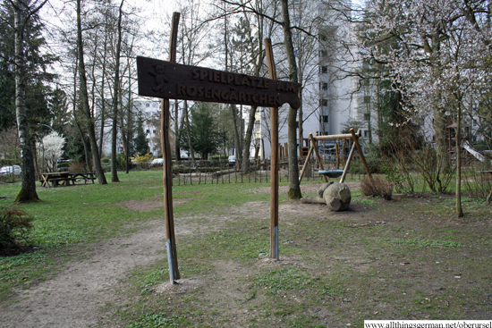
[[81, 0], [77, 0], [77, 55], [79, 60], [79, 77], [81, 80], [81, 105], [87, 121], [89, 130], [89, 142], [94, 160], [94, 168], [98, 175], [99, 184], [106, 184], [106, 177], [101, 166], [101, 159], [98, 152], [98, 142], [96, 140], [96, 130], [94, 129], [94, 119], [90, 114], [89, 97], [87, 92], [87, 75], [84, 64], [84, 51], [82, 44], [82, 24], [81, 24]]

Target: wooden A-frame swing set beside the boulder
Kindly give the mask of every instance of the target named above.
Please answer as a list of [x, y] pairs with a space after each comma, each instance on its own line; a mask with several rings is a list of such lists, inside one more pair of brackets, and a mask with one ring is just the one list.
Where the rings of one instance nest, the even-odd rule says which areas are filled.
[[[364, 157], [364, 154], [362, 153], [362, 148], [361, 144], [359, 143], [359, 138], [361, 137], [361, 130], [358, 130], [357, 133], [353, 131], [353, 129], [350, 130], [350, 134], [333, 134], [333, 135], [327, 135], [327, 136], [318, 136], [318, 133], [315, 137], [313, 137], [312, 133], [310, 133], [310, 150], [308, 151], [308, 156], [306, 156], [306, 161], [304, 162], [304, 165], [302, 166], [302, 171], [301, 171], [301, 176], [299, 177], [299, 183], [302, 181], [302, 177], [304, 176], [304, 172], [306, 172], [306, 169], [308, 167], [308, 164], [310, 164], [310, 157], [312, 156], [312, 153], [314, 151], [316, 155], [316, 159], [319, 165], [319, 171], [318, 173], [323, 175], [325, 181], [328, 181], [328, 178], [338, 178], [339, 176], [342, 176], [340, 179], [340, 183], [344, 183], [345, 181], [345, 176], [347, 175], [347, 172], [349, 170], [349, 166], [352, 161], [353, 154], [355, 152], [355, 148], [357, 148], [357, 151], [359, 152], [359, 155], [361, 156], [361, 161], [362, 164], [364, 165], [364, 168], [366, 172], [368, 173], [369, 179], [372, 181], [372, 175], [369, 172], [369, 167], [366, 162], [366, 158]], [[350, 154], [347, 158], [347, 161], [344, 166], [344, 170], [338, 170], [338, 163], [339, 163], [339, 149], [338, 149], [338, 144], [335, 142], [335, 153], [336, 153], [336, 167], [335, 170], [325, 170], [323, 166], [323, 162], [321, 161], [321, 157], [319, 156], [319, 150], [318, 150], [318, 140], [326, 140], [326, 139], [352, 139], [352, 148], [350, 151]]]

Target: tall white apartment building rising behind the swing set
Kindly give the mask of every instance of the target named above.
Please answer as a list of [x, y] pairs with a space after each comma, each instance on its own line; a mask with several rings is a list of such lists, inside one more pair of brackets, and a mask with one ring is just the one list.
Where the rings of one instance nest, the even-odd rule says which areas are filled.
[[[352, 42], [352, 26], [341, 14], [343, 8], [339, 11], [330, 10], [336, 4], [340, 2], [335, 2], [335, 4], [331, 1], [318, 2], [318, 14], [325, 17], [323, 23], [318, 26], [318, 57], [311, 63], [313, 66], [318, 66], [318, 83], [310, 83], [305, 86], [310, 89], [304, 91], [311, 95], [318, 95], [318, 101], [303, 99], [302, 139], [308, 139], [310, 133], [315, 135], [317, 132], [319, 135], [340, 134], [345, 128], [351, 128], [348, 125], [353, 121], [359, 122], [358, 127], [362, 130], [363, 139], [369, 139], [371, 131], [376, 130], [376, 111], [371, 108], [373, 103], [371, 94], [373, 94], [374, 87], [369, 81], [361, 80], [357, 74], [354, 74], [362, 70], [363, 65], [357, 57], [357, 51]], [[344, 8], [350, 8], [350, 3], [345, 2]], [[351, 15], [349, 12], [344, 14]], [[294, 15], [293, 21], [295, 20]], [[279, 143], [281, 145], [287, 142], [287, 111], [286, 105], [279, 108]], [[255, 145], [251, 148], [264, 145], [265, 156], [269, 158], [269, 109], [259, 109], [256, 120]], [[299, 135], [298, 132], [296, 134]], [[373, 142], [377, 142], [375, 133], [372, 133], [371, 137]], [[326, 142], [327, 144], [333, 143], [333, 140]]]

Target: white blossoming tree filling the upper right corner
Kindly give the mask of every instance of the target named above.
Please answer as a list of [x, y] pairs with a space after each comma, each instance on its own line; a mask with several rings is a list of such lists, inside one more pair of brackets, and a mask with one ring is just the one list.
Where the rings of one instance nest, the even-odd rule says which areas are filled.
[[[489, 93], [490, 16], [490, 4], [482, 0], [371, 0], [366, 9], [361, 54], [385, 65], [384, 78], [403, 95], [406, 109], [432, 128], [424, 132], [435, 135], [437, 176], [449, 163], [445, 120], [456, 122], [458, 216], [460, 124], [463, 110], [476, 109], [473, 104]], [[444, 191], [438, 179], [436, 191]]]

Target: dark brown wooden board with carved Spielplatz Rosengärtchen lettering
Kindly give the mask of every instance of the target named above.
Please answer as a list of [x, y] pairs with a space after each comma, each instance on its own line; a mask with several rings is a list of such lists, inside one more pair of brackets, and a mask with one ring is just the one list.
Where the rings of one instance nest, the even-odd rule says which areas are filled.
[[299, 83], [137, 57], [139, 95], [260, 107], [301, 105]]

